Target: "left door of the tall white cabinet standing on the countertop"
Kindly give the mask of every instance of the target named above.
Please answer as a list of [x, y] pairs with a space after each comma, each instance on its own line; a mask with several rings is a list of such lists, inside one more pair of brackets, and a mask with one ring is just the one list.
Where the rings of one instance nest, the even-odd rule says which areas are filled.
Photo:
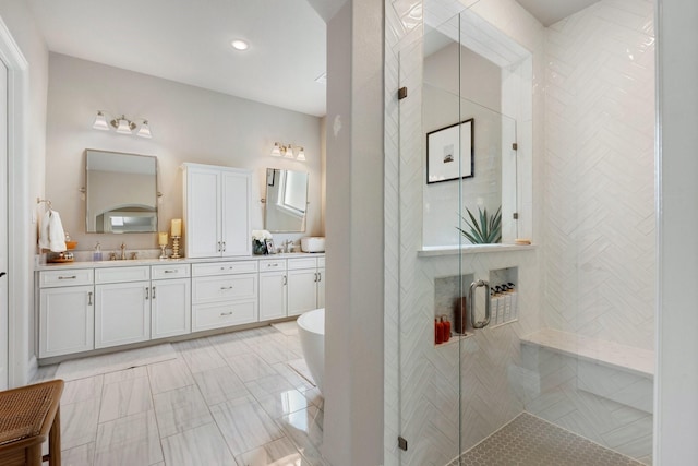
[[220, 171], [188, 168], [185, 179], [184, 254], [188, 258], [220, 255]]

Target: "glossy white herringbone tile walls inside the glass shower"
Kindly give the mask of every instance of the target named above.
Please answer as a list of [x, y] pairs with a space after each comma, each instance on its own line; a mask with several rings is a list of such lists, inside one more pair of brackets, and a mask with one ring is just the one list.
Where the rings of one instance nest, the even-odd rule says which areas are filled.
[[[440, 0], [444, 10], [434, 12], [434, 3], [424, 5], [424, 14], [447, 19], [464, 8], [457, 0]], [[492, 24], [501, 11], [502, 27], [516, 37], [512, 29], [522, 22], [512, 11], [520, 7], [514, 0], [495, 3], [483, 0], [473, 9]], [[532, 83], [534, 95], [543, 88], [549, 93], [545, 117], [534, 103], [535, 121], [524, 122], [532, 127], [535, 152], [525, 156], [531, 157], [532, 200], [538, 204], [530, 206], [530, 198], [521, 199], [532, 212], [544, 213], [525, 220], [540, 227], [533, 234], [541, 247], [467, 254], [460, 263], [455, 255], [417, 254], [422, 246], [424, 186], [422, 4], [386, 1], [386, 465], [443, 466], [525, 409], [651, 462], [651, 414], [641, 409], [646, 396], [631, 392], [635, 383], [646, 382], [580, 368], [576, 359], [522, 348], [519, 342], [521, 335], [544, 326], [599, 337], [619, 333], [622, 343], [640, 347], [651, 335], [653, 159], [647, 135], [652, 135], [653, 120], [648, 123], [642, 115], [653, 109], [640, 109], [638, 101], [653, 106], [653, 81], [647, 81], [653, 76], [651, 71], [647, 74], [653, 41], [651, 23], [649, 28], [631, 27], [642, 24], [636, 3], [641, 11], [650, 4], [602, 0], [585, 12], [589, 17], [571, 17], [547, 31], [547, 52], [533, 55]], [[650, 8], [639, 16], [651, 20], [651, 13]], [[533, 43], [537, 34], [522, 31], [520, 36]], [[529, 49], [537, 49], [530, 43]], [[546, 73], [543, 61], [551, 62]], [[567, 87], [571, 84], [576, 87]], [[400, 86], [408, 87], [408, 98], [398, 103]], [[541, 120], [545, 133], [537, 124]], [[490, 270], [508, 266], [518, 266], [519, 321], [435, 348], [434, 279], [459, 273], [486, 278]], [[614, 383], [603, 384], [606, 379]], [[622, 405], [609, 391], [633, 393], [639, 402]], [[398, 435], [408, 440], [406, 452], [397, 449]]]

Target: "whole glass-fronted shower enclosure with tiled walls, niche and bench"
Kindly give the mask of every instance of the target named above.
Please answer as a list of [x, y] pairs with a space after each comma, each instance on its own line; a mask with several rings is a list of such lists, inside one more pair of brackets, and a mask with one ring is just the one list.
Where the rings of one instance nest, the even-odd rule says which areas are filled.
[[652, 2], [386, 20], [385, 464], [470, 464], [512, 429], [651, 464]]

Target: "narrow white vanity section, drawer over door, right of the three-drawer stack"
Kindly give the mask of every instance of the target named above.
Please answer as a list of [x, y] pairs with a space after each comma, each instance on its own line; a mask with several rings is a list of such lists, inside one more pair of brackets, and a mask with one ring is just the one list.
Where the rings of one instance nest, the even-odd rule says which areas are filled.
[[260, 321], [288, 315], [286, 260], [260, 261]]

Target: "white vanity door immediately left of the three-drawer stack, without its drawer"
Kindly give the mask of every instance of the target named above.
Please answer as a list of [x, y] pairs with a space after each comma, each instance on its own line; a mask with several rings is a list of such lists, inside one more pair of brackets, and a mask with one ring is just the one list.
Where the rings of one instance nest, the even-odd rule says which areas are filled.
[[151, 337], [184, 335], [192, 328], [189, 278], [153, 282], [151, 286]]

